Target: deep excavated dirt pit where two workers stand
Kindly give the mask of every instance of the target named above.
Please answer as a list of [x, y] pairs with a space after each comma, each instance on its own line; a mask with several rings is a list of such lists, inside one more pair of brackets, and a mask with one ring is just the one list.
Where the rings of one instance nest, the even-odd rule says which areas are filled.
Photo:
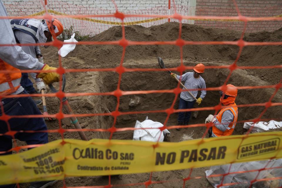
[[[166, 59], [167, 67], [177, 67], [180, 65], [179, 60], [175, 59]], [[206, 66], [219, 66], [221, 63], [211, 63], [211, 62], [202, 62]], [[157, 68], [158, 63], [156, 59], [151, 60], [128, 60], [125, 61], [124, 66], [127, 68]], [[186, 66], [194, 66], [194, 62], [185, 62]], [[192, 71], [192, 70], [190, 70]], [[179, 73], [177, 73], [179, 74]], [[227, 75], [229, 74], [228, 69], [207, 69], [202, 75], [206, 81], [207, 87], [218, 87], [222, 85], [226, 80]], [[102, 78], [111, 78], [115, 80], [114, 82], [104, 82], [104, 92], [113, 91], [117, 88], [117, 73], [101, 73]], [[229, 82], [234, 85], [265, 85], [263, 80], [260, 80], [256, 76], [249, 75], [246, 70], [235, 70]], [[173, 80], [169, 73], [166, 71], [151, 71], [151, 72], [129, 72], [123, 73], [120, 89], [126, 91], [138, 91], [138, 90], [167, 90], [177, 87], [177, 82]], [[236, 103], [243, 105], [249, 103], [264, 103], [267, 102], [271, 97], [271, 94], [274, 92], [274, 89], [253, 89], [253, 90], [239, 90], [238, 97], [236, 98]], [[198, 92], [199, 96], [200, 92]], [[170, 108], [174, 100], [175, 94], [173, 93], [153, 93], [153, 94], [142, 94], [142, 95], [124, 95], [120, 98], [120, 107], [121, 112], [132, 112], [132, 111], [147, 111], [147, 110], [165, 110]], [[136, 100], [140, 98], [140, 104], [135, 107], [130, 107], [130, 99]], [[273, 99], [274, 101], [279, 101], [281, 95], [276, 95]], [[105, 102], [110, 104], [108, 109], [110, 111], [115, 110], [117, 105], [117, 100], [113, 96], [105, 97]], [[174, 105], [175, 109], [178, 109], [179, 96]], [[210, 107], [219, 104], [219, 92], [218, 91], [207, 91], [207, 95], [204, 98], [201, 105], [195, 104], [194, 107]], [[243, 107], [239, 108], [239, 119], [238, 121], [249, 120], [257, 117], [264, 107]], [[280, 112], [277, 110], [279, 107], [269, 108], [263, 117], [265, 118], [277, 118], [280, 115]], [[281, 109], [281, 108], [280, 108]], [[197, 118], [192, 117], [189, 124], [204, 123], [205, 118], [209, 114], [214, 114], [214, 110], [209, 111], [199, 111]], [[116, 127], [134, 127], [136, 120], [143, 121], [145, 117], [148, 116], [149, 119], [158, 122], [164, 122], [167, 114], [166, 113], [144, 113], [144, 114], [130, 114], [122, 115], [117, 118]], [[167, 125], [177, 125], [177, 113], [172, 114], [169, 117]], [[236, 131], [234, 134], [241, 134], [243, 123], [238, 123]], [[205, 127], [196, 127], [183, 129], [181, 131], [171, 130], [171, 140], [172, 142], [178, 142], [179, 138], [183, 133], [189, 133], [194, 131], [193, 138], [200, 138], [203, 135], [203, 132], [206, 130]], [[113, 134], [114, 139], [132, 139], [133, 132], [116, 132]]]

